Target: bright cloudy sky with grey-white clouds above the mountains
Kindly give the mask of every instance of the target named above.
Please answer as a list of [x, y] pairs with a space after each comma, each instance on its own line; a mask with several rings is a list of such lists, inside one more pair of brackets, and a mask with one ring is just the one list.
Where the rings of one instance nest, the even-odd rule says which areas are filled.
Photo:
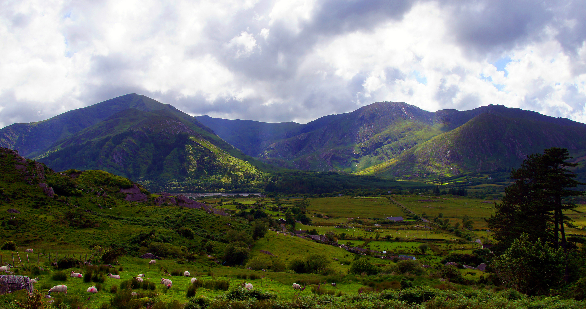
[[127, 93], [307, 123], [377, 101], [586, 123], [586, 5], [0, 0], [0, 127]]

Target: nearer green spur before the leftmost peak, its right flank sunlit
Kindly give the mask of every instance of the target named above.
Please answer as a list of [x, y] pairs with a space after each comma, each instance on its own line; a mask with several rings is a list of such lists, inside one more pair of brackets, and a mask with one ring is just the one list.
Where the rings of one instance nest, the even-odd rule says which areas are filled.
[[102, 169], [152, 190], [261, 189], [264, 172], [193, 117], [180, 116], [170, 110], [122, 110], [36, 159], [57, 170]]

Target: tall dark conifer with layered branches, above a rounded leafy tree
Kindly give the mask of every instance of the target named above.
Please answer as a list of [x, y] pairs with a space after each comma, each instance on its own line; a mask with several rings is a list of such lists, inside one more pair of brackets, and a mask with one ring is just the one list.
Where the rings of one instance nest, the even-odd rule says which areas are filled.
[[486, 220], [499, 240], [495, 252], [503, 252], [527, 230], [532, 231], [532, 241], [543, 239], [567, 249], [564, 225], [568, 218], [563, 211], [575, 205], [564, 197], [584, 194], [567, 189], [581, 184], [567, 169], [577, 166], [565, 162], [570, 158], [565, 148], [548, 148], [543, 154], [529, 155], [519, 169], [512, 169], [510, 178], [515, 183], [505, 189], [503, 202], [495, 203], [495, 215]]

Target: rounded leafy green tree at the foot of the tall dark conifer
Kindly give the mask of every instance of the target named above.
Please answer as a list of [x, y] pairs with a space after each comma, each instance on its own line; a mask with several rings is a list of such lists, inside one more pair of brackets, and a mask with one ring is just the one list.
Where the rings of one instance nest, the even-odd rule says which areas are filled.
[[531, 242], [529, 235], [522, 233], [505, 253], [492, 259], [490, 265], [507, 286], [525, 294], [546, 294], [561, 281], [564, 252], [541, 240]]

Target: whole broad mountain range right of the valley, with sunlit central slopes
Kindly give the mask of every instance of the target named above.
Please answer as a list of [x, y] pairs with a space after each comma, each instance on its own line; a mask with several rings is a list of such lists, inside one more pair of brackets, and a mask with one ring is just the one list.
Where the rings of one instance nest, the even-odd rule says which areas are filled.
[[[203, 117], [197, 117], [202, 120]], [[248, 154], [280, 167], [359, 175], [439, 177], [507, 171], [549, 147], [586, 155], [586, 124], [534, 111], [489, 105], [435, 113], [401, 102], [377, 102], [278, 134], [258, 134], [239, 121], [206, 123], [227, 142], [247, 140]], [[319, 125], [315, 125], [315, 122]], [[255, 123], [255, 127], [270, 127]]]

